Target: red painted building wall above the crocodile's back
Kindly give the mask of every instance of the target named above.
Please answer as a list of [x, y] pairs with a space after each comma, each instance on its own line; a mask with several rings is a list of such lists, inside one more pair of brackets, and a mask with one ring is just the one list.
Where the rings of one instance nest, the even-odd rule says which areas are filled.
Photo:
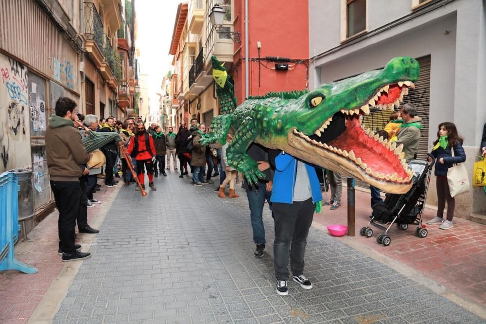
[[[293, 70], [277, 71], [275, 63], [249, 62], [249, 94], [263, 95], [269, 91], [303, 90], [308, 86], [309, 1], [249, 0], [249, 58], [281, 56], [304, 60]], [[298, 3], [298, 4], [297, 4]], [[238, 104], [244, 100], [244, 0], [234, 0], [234, 31], [241, 32], [241, 44], [235, 43], [235, 95]], [[240, 48], [241, 46], [241, 48]], [[293, 63], [289, 64], [291, 67]]]

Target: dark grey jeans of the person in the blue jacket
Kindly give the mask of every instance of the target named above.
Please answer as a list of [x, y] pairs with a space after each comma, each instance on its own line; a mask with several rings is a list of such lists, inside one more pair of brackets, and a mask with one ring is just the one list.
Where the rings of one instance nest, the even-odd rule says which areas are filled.
[[291, 249], [290, 268], [292, 273], [296, 276], [304, 273], [307, 235], [312, 224], [315, 204], [312, 202], [312, 198], [305, 201], [294, 201], [292, 204], [274, 202], [272, 210], [275, 215], [275, 276], [277, 280], [287, 280], [289, 278], [289, 249]]

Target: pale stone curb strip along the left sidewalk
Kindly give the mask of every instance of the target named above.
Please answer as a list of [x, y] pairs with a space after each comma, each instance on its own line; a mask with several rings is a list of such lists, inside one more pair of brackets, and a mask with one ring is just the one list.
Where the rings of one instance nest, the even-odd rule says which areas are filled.
[[[111, 204], [113, 203], [113, 201], [117, 197], [118, 192], [120, 191], [121, 186], [122, 185], [116, 186], [115, 190], [113, 190], [109, 194], [106, 201], [101, 205], [97, 205], [97, 212], [99, 211], [99, 214], [90, 221], [93, 228], [101, 227], [104, 218], [110, 210]], [[54, 213], [57, 213], [57, 210], [54, 211]], [[95, 237], [96, 235], [83, 235], [82, 240], [78, 242], [79, 244], [81, 244], [83, 252], [89, 251], [91, 243], [93, 242]], [[27, 322], [28, 324], [52, 323], [52, 320], [59, 310], [62, 301], [68, 294], [69, 287], [74, 281], [74, 278], [76, 277], [76, 274], [78, 273], [82, 262], [83, 261], [75, 261], [66, 262], [64, 264], [61, 271], [52, 282], [51, 287], [49, 287], [49, 289], [46, 291], [44, 298], [42, 298], [39, 305], [37, 305], [37, 307], [35, 308], [34, 313]]]

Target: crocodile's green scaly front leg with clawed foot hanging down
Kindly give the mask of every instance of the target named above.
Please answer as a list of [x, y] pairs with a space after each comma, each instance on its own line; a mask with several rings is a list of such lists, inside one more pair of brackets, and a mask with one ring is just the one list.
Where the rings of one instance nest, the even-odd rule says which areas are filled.
[[254, 128], [252, 118], [246, 117], [226, 150], [228, 164], [243, 173], [250, 184], [257, 184], [259, 179], [266, 179], [265, 174], [258, 169], [258, 163], [246, 154], [248, 146], [257, 137]]

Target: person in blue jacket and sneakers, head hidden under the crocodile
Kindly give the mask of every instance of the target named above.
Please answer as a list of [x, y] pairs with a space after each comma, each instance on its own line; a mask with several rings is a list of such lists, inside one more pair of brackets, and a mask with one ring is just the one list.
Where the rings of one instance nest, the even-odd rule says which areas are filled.
[[280, 152], [275, 158], [272, 211], [275, 216], [274, 264], [277, 293], [289, 294], [289, 249], [292, 278], [304, 289], [312, 283], [304, 276], [304, 254], [316, 203], [322, 200], [314, 165]]

